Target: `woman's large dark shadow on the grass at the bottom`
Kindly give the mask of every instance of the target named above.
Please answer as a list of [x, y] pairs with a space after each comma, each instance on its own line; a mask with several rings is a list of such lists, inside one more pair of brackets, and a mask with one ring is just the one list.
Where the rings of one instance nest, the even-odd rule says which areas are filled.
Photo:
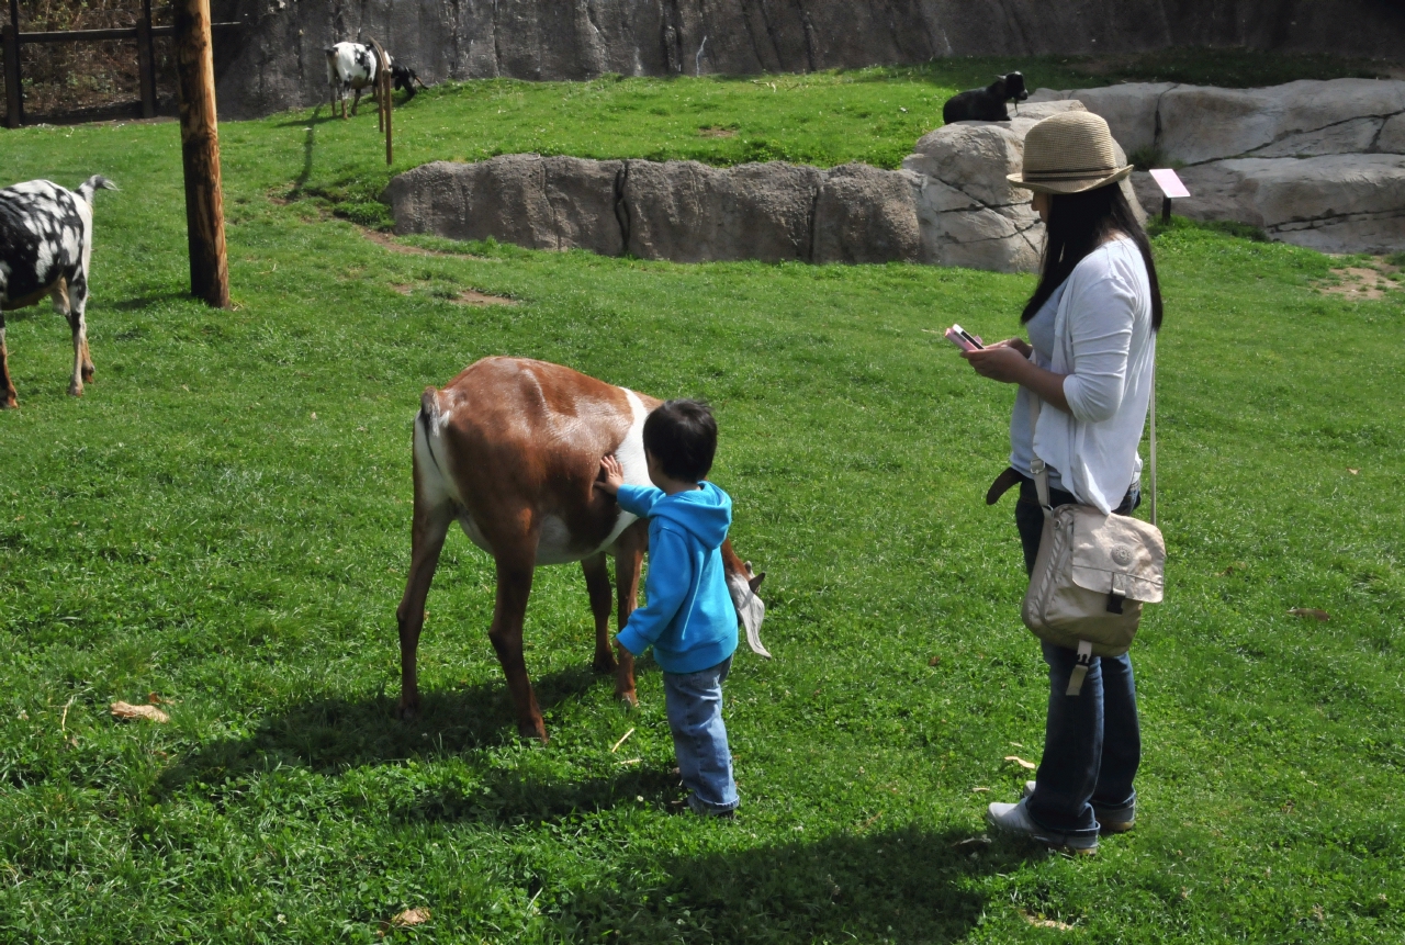
[[[718, 830], [745, 831], [745, 812]], [[981, 878], [1024, 859], [967, 840], [898, 827], [687, 857], [643, 854], [638, 869], [544, 911], [575, 941], [953, 942], [985, 913]]]

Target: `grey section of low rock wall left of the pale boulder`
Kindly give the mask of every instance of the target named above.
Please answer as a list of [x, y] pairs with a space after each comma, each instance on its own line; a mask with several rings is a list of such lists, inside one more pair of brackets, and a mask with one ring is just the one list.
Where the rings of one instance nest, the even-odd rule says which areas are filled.
[[398, 233], [704, 263], [922, 258], [912, 176], [867, 164], [596, 161], [503, 154], [434, 161], [386, 188]]

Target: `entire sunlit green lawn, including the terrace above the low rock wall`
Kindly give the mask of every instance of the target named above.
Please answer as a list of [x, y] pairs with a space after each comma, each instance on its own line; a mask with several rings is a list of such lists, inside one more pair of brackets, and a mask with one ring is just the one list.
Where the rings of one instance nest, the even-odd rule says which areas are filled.
[[[697, 128], [774, 114], [754, 136], [783, 153], [864, 159], [968, 84], [847, 79], [472, 84], [399, 111], [399, 153], [725, 163], [735, 139]], [[837, 110], [871, 100], [927, 111], [880, 129]], [[538, 124], [551, 110], [569, 122]], [[937, 331], [1013, 333], [1033, 281], [386, 246], [323, 204], [384, 181], [374, 136], [370, 110], [223, 126], [232, 312], [184, 295], [174, 125], [0, 138], [7, 183], [124, 187], [98, 195], [87, 396], [65, 395], [62, 320], [8, 316], [0, 939], [1401, 941], [1398, 291], [1345, 300], [1315, 253], [1156, 236], [1170, 564], [1134, 650], [1142, 806], [1075, 861], [972, 841], [1026, 777], [1006, 755], [1038, 758], [1047, 682], [1010, 500], [982, 503], [1012, 390]], [[528, 611], [552, 741], [516, 737], [490, 562], [461, 534], [429, 601], [426, 712], [392, 718], [410, 420], [488, 354], [715, 404], [714, 479], [769, 571], [776, 654], [739, 653], [728, 682], [738, 821], [677, 813], [659, 673], [614, 705], [576, 569], [540, 571]], [[149, 694], [169, 725], [110, 716]], [[388, 924], [410, 907], [430, 921]]]

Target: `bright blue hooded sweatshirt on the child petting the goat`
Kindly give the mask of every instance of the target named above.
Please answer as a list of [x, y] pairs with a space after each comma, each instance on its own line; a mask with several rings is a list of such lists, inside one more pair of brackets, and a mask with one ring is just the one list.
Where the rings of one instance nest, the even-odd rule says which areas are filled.
[[649, 520], [648, 604], [629, 615], [620, 645], [641, 656], [653, 646], [665, 673], [698, 673], [736, 650], [736, 608], [722, 571], [732, 500], [710, 482], [674, 496], [620, 486], [620, 508]]

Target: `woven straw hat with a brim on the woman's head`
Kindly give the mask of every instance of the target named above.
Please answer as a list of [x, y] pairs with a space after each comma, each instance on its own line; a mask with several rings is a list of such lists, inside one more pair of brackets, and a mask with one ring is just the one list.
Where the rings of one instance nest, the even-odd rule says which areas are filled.
[[1024, 136], [1024, 167], [1009, 174], [1016, 187], [1040, 194], [1080, 194], [1116, 184], [1132, 173], [1118, 164], [1107, 122], [1090, 111], [1065, 111]]

